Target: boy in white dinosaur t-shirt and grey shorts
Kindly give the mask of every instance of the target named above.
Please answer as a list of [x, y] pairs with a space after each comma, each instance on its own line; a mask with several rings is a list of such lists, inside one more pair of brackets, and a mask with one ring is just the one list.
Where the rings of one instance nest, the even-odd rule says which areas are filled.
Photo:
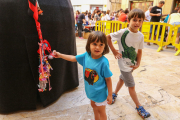
[[[132, 76], [132, 72], [139, 67], [141, 61], [144, 36], [138, 31], [138, 29], [142, 26], [144, 19], [145, 15], [141, 9], [131, 10], [128, 14], [129, 27], [107, 35], [107, 40], [115, 58], [118, 58], [118, 64], [121, 71], [120, 80], [118, 81], [116, 89], [112, 95], [113, 103], [115, 102], [118, 91], [125, 83], [129, 88], [131, 98], [136, 104], [137, 112], [141, 117], [147, 118], [150, 114], [138, 101], [134, 78]], [[119, 51], [114, 48], [111, 40], [117, 40]]]

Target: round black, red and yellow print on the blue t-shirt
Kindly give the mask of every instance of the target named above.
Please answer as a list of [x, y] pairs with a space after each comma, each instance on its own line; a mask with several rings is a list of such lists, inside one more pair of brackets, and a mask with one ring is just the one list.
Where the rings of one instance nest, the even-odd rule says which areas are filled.
[[95, 70], [86, 68], [84, 75], [85, 75], [85, 80], [89, 83], [89, 85], [93, 85], [95, 82], [99, 80], [99, 76]]

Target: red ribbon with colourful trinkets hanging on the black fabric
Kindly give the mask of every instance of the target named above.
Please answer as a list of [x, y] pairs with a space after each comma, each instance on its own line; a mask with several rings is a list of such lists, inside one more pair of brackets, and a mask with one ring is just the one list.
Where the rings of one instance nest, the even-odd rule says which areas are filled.
[[[33, 12], [33, 18], [35, 20], [36, 23], [36, 28], [37, 28], [37, 32], [38, 32], [38, 36], [39, 36], [39, 40], [40, 43], [38, 43], [39, 45], [39, 49], [38, 49], [38, 53], [39, 53], [39, 58], [40, 58], [40, 65], [39, 65], [39, 92], [44, 92], [46, 91], [46, 83], [49, 83], [49, 91], [52, 89], [51, 85], [50, 85], [50, 69], [52, 70], [51, 65], [48, 62], [48, 58], [49, 59], [53, 59], [53, 54], [51, 51], [51, 46], [49, 44], [49, 42], [47, 40], [43, 40], [42, 37], [42, 32], [41, 32], [41, 27], [40, 27], [40, 22], [38, 21], [39, 15], [43, 14], [43, 11], [40, 9], [38, 1], [34, 1], [34, 0], [28, 0], [29, 2], [29, 8], [30, 8], [30, 12]], [[45, 51], [49, 52], [49, 55], [45, 54]]]

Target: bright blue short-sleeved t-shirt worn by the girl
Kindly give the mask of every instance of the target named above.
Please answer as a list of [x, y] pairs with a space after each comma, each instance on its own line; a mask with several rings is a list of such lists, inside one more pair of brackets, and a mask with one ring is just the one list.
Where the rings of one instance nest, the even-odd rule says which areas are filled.
[[105, 78], [112, 76], [108, 59], [104, 56], [99, 59], [93, 59], [90, 53], [85, 52], [77, 55], [76, 60], [83, 66], [87, 97], [97, 103], [105, 101], [108, 96]]

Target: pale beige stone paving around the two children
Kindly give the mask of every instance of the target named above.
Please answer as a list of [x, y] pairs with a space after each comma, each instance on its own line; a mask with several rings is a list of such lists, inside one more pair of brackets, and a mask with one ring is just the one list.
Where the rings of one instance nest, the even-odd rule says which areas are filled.
[[[85, 52], [86, 39], [77, 38], [77, 53]], [[116, 48], [117, 44], [115, 45]], [[174, 49], [156, 52], [158, 46], [143, 49], [141, 66], [133, 72], [140, 103], [151, 113], [147, 120], [180, 120], [180, 56], [174, 56]], [[106, 55], [113, 72], [113, 89], [119, 80], [117, 60], [112, 52]], [[52, 105], [36, 111], [20, 111], [0, 115], [0, 120], [88, 120], [93, 111], [84, 91], [82, 67], [78, 65], [79, 87], [64, 93]], [[115, 104], [107, 106], [108, 120], [141, 120], [135, 111], [125, 86], [118, 93]]]

